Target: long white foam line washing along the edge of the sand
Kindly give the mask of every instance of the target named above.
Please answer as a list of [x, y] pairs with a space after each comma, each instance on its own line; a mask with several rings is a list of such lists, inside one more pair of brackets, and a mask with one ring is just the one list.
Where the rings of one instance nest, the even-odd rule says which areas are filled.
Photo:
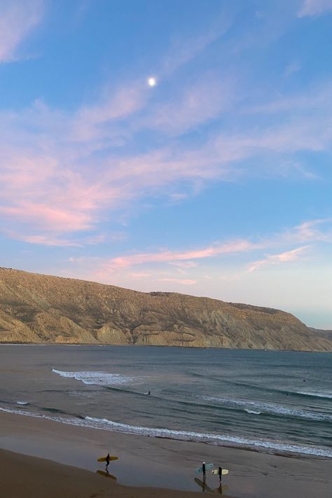
[[9, 408], [1, 408], [0, 411], [6, 413], [15, 413], [28, 417], [39, 417], [53, 422], [61, 422], [62, 424], [78, 425], [81, 427], [90, 427], [93, 429], [102, 429], [106, 431], [123, 432], [125, 434], [137, 434], [139, 436], [154, 436], [172, 439], [181, 439], [182, 441], [201, 441], [205, 443], [214, 443], [216, 445], [237, 445], [240, 447], [261, 448], [269, 451], [292, 452], [303, 455], [314, 455], [318, 457], [332, 458], [332, 451], [324, 448], [314, 448], [308, 446], [279, 443], [266, 440], [250, 439], [241, 436], [226, 436], [223, 434], [204, 434], [193, 431], [176, 431], [173, 429], [161, 429], [159, 427], [141, 427], [120, 422], [113, 422], [106, 418], [99, 419], [95, 417], [85, 417], [80, 419], [76, 417], [59, 417], [50, 415], [40, 415], [39, 413], [27, 412], [24, 410], [11, 410]]

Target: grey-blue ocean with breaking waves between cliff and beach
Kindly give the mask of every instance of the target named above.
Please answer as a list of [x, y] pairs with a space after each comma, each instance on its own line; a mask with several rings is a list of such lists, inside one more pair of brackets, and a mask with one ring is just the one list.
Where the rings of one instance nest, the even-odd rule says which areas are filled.
[[332, 354], [0, 345], [1, 411], [332, 458]]

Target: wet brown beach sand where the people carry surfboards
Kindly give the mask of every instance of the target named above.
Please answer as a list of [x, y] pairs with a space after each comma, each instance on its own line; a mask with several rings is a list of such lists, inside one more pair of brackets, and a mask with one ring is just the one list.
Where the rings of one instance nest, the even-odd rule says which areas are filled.
[[[203, 459], [229, 469], [223, 478], [228, 497], [331, 498], [331, 459], [133, 436], [10, 413], [0, 413], [0, 448], [11, 451], [0, 452], [1, 495], [8, 498], [197, 497], [202, 487], [193, 470]], [[116, 481], [97, 473], [105, 468], [97, 458], [107, 452], [119, 457], [109, 466]], [[208, 472], [205, 491], [218, 488], [218, 477]]]

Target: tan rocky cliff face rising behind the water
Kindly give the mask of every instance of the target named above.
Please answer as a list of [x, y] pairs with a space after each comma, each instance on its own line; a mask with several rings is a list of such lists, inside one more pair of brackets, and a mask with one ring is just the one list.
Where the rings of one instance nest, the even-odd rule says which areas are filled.
[[292, 314], [0, 268], [0, 342], [332, 351]]

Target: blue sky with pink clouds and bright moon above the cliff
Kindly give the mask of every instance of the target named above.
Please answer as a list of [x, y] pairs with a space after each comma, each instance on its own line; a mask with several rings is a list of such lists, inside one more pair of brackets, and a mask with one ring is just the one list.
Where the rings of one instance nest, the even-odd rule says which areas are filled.
[[332, 328], [332, 0], [0, 0], [0, 265]]

